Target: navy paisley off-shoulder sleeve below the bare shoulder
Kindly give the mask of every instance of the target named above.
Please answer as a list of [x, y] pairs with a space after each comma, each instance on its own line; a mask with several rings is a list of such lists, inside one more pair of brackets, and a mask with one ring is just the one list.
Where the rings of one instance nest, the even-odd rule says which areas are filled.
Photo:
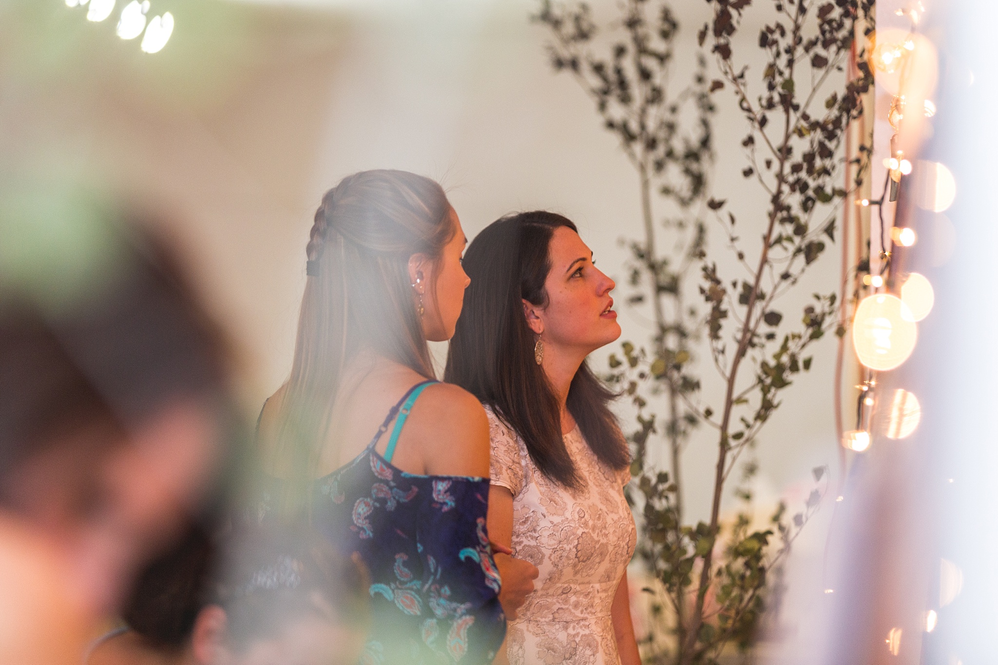
[[[506, 616], [485, 525], [489, 483], [428, 480], [430, 492], [424, 493], [417, 524], [424, 577], [414, 586], [421, 588], [421, 599], [406, 611], [425, 617], [423, 642], [446, 662], [490, 663], [506, 636]], [[395, 567], [400, 578], [410, 575], [398, 556]]]

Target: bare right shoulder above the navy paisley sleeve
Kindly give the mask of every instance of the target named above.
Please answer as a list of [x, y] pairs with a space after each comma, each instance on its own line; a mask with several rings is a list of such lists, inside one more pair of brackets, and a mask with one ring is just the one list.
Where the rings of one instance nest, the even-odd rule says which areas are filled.
[[434, 384], [409, 418], [428, 474], [488, 477], [489, 421], [474, 395], [452, 384]]

